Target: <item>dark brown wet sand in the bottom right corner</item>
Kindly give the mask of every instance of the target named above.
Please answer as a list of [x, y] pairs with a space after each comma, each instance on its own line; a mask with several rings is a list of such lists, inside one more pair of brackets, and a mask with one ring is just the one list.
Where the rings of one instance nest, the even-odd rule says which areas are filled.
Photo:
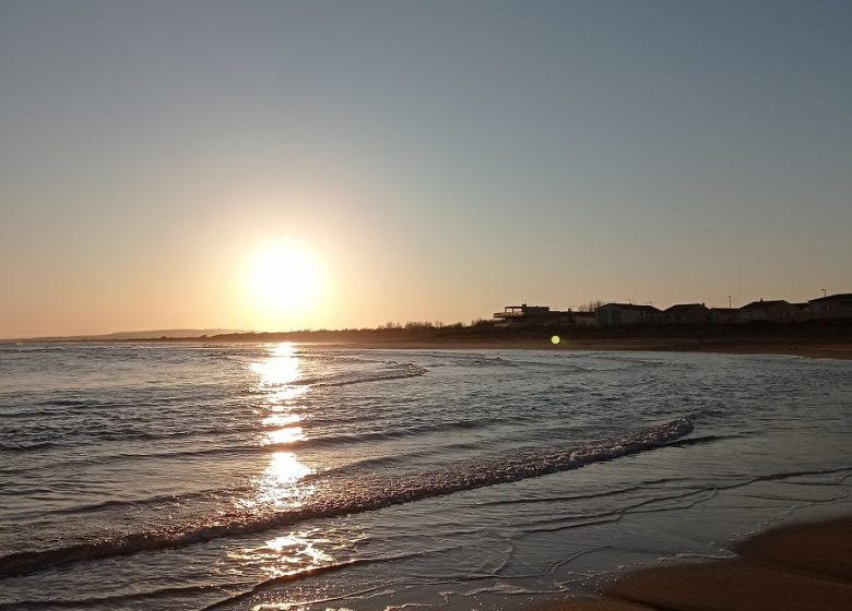
[[537, 611], [841, 611], [852, 609], [852, 518], [769, 530], [738, 558], [643, 568], [616, 577], [600, 598]]

